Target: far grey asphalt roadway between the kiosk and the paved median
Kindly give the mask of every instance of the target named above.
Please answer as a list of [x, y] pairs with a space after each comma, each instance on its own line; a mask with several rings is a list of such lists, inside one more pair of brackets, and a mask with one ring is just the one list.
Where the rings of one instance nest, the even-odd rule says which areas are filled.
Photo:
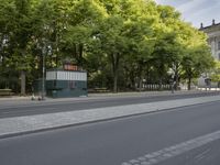
[[62, 111], [85, 110], [102, 107], [114, 107], [123, 105], [146, 103], [155, 101], [165, 101], [174, 99], [194, 98], [219, 95], [219, 91], [200, 92], [200, 94], [183, 94], [183, 95], [164, 95], [164, 96], [135, 96], [135, 97], [106, 97], [106, 98], [81, 98], [81, 100], [65, 101], [55, 100], [47, 101], [20, 101], [20, 102], [0, 102], [0, 118], [33, 116], [42, 113], [53, 113]]

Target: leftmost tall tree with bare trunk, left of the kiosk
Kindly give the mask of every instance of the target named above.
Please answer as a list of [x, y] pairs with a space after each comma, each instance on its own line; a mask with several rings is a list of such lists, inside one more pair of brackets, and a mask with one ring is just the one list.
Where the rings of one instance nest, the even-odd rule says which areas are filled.
[[20, 72], [21, 95], [25, 95], [25, 79], [29, 70], [31, 55], [29, 54], [29, 44], [32, 36], [32, 4], [31, 0], [14, 0], [15, 12], [13, 15], [13, 30], [10, 32], [10, 45], [13, 50], [11, 64]]

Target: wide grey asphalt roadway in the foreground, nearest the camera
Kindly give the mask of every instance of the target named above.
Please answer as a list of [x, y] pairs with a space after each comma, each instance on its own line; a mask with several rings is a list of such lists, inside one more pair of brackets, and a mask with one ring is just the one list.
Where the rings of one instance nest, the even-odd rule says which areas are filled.
[[[172, 111], [2, 139], [0, 164], [121, 165], [142, 155], [219, 131], [219, 107], [220, 101], [209, 102]], [[201, 155], [204, 162], [211, 163], [206, 165], [218, 165], [219, 146], [219, 141], [213, 141], [166, 160], [160, 165], [163, 163], [188, 165], [189, 160], [186, 157], [191, 153], [197, 157]], [[205, 152], [206, 148], [209, 151]], [[201, 164], [197, 162], [194, 165]]]

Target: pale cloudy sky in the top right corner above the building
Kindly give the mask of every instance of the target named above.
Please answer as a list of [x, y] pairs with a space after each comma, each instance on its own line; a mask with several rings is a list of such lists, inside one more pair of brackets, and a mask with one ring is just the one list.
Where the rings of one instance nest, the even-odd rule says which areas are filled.
[[194, 26], [200, 28], [220, 23], [220, 0], [155, 0], [158, 4], [168, 4], [178, 10], [183, 20], [190, 22]]

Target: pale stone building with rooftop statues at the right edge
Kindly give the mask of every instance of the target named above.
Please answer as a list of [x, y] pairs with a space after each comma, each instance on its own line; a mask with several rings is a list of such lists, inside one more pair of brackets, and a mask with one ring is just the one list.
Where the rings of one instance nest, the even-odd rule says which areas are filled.
[[204, 26], [201, 23], [200, 31], [207, 33], [211, 54], [215, 59], [220, 61], [220, 23], [216, 23], [215, 20], [212, 20], [212, 24], [209, 26]]

